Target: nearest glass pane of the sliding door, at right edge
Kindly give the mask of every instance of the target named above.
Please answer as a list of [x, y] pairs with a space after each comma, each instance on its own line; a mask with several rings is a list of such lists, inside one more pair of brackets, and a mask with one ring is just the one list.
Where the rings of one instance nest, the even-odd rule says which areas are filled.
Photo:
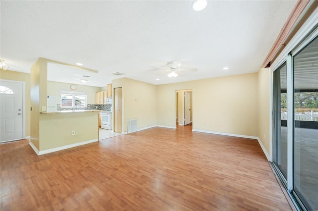
[[318, 38], [294, 60], [294, 193], [318, 210]]

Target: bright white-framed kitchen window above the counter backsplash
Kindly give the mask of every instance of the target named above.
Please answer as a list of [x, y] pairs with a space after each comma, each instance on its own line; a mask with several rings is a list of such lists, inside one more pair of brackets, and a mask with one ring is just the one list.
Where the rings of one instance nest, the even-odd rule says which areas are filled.
[[61, 91], [61, 107], [83, 108], [86, 107], [86, 93]]

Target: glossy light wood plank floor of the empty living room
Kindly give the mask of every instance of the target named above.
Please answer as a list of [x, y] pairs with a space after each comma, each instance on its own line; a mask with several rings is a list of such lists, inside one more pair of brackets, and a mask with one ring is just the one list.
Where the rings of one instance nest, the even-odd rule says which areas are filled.
[[1, 211], [291, 210], [256, 140], [151, 128], [37, 156], [0, 145]]

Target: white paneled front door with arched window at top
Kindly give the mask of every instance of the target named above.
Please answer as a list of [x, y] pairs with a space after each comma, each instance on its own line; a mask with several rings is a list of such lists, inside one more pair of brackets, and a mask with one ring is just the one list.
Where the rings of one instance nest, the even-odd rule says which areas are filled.
[[0, 142], [23, 138], [22, 83], [0, 81]]

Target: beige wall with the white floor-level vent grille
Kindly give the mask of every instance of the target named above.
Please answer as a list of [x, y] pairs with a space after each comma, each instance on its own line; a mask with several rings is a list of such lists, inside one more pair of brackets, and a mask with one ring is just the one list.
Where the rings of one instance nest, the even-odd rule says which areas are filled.
[[[138, 129], [157, 124], [156, 85], [120, 78], [112, 81], [112, 89], [118, 87], [122, 87], [123, 132], [127, 132], [128, 119], [137, 118]], [[173, 92], [174, 95], [175, 92]]]

